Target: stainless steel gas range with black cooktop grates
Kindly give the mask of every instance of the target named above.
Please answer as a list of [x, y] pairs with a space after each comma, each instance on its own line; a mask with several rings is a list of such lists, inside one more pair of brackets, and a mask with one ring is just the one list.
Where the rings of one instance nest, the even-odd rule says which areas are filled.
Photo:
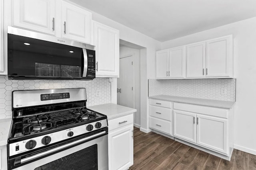
[[85, 88], [12, 92], [8, 169], [108, 169], [107, 117], [86, 101]]

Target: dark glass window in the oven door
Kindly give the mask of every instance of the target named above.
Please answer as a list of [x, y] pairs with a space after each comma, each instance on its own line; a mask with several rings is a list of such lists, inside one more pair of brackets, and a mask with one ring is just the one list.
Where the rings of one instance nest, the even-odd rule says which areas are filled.
[[98, 170], [98, 146], [92, 145], [34, 170]]

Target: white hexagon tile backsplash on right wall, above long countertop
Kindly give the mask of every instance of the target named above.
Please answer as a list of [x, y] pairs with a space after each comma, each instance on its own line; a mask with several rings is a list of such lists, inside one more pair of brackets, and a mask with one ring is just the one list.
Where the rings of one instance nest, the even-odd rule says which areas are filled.
[[[178, 88], [178, 90], [176, 90]], [[221, 88], [226, 94], [221, 94]], [[148, 96], [170, 95], [223, 101], [236, 101], [236, 79], [148, 80]]]

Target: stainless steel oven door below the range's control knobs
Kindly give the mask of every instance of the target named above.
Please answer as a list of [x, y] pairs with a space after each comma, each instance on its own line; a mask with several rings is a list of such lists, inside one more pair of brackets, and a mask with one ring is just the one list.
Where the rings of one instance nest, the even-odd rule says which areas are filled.
[[[96, 137], [97, 135], [100, 137]], [[91, 138], [95, 139], [88, 141]], [[81, 144], [77, 145], [77, 143]], [[42, 155], [45, 156], [40, 158]], [[106, 131], [101, 131], [93, 137], [85, 137], [15, 160], [10, 161], [14, 166], [12, 168], [9, 164], [9, 170], [108, 170], [108, 135]]]

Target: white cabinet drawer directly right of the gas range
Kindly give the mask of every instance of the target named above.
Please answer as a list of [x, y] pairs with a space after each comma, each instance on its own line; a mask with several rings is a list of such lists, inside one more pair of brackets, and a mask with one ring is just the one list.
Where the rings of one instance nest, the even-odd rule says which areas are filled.
[[133, 114], [111, 119], [108, 121], [108, 131], [130, 124], [133, 124]]

